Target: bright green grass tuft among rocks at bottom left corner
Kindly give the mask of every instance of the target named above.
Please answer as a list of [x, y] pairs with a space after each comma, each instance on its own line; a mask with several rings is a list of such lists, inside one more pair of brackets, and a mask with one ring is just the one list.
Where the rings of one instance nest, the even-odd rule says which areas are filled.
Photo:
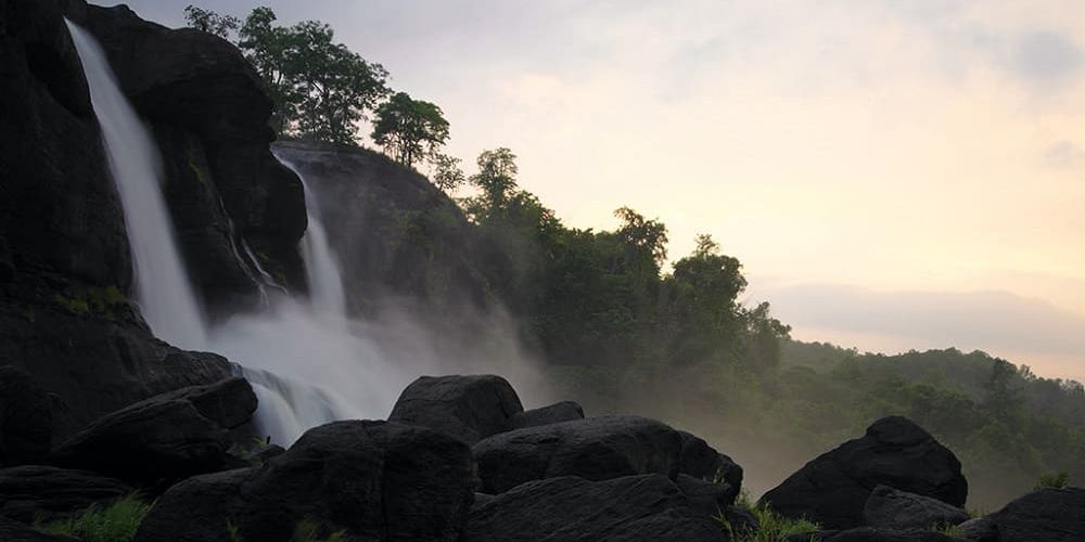
[[86, 542], [128, 542], [136, 537], [139, 524], [150, 511], [150, 504], [131, 494], [105, 507], [92, 505], [78, 516], [50, 521], [40, 528]]

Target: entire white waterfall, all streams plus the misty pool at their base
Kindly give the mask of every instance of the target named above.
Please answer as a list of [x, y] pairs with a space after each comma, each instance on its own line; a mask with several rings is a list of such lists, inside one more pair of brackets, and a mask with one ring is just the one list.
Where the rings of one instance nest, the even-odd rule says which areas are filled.
[[[549, 399], [545, 379], [521, 350], [510, 319], [499, 312], [464, 309], [456, 322], [459, 327], [439, 332], [394, 306], [376, 319], [349, 319], [341, 268], [316, 194], [302, 175], [309, 227], [299, 248], [309, 297], [266, 295], [264, 310], [237, 314], [212, 327], [174, 240], [154, 139], [118, 87], [94, 38], [67, 24], [120, 194], [141, 312], [166, 341], [210, 350], [239, 364], [259, 398], [256, 426], [261, 435], [289, 446], [306, 429], [334, 420], [384, 418], [403, 388], [423, 374], [496, 372], [509, 378], [525, 401]], [[264, 292], [279, 294], [281, 287], [259, 268], [244, 240], [240, 245], [248, 261], [237, 247], [235, 257], [253, 269], [252, 278], [263, 283]]]

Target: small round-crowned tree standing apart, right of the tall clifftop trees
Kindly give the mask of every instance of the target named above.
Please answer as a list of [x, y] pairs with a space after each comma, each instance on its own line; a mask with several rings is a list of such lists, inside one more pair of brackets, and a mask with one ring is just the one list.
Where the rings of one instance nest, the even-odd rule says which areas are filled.
[[448, 140], [448, 120], [441, 107], [396, 92], [376, 109], [373, 141], [393, 158], [412, 166], [424, 156], [434, 156]]

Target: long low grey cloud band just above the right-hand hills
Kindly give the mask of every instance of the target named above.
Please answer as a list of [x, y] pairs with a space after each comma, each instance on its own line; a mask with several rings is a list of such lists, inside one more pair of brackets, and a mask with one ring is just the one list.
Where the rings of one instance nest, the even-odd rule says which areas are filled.
[[917, 346], [1085, 359], [1085, 317], [1009, 292], [876, 292], [803, 284], [766, 294], [779, 318], [796, 327], [899, 337]]

